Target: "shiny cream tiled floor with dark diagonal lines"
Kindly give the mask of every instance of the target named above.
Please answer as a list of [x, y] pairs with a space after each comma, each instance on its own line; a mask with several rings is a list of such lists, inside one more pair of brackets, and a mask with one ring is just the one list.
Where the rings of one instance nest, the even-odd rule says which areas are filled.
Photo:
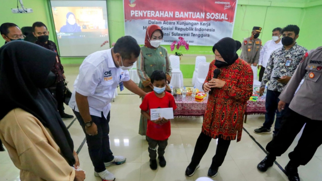
[[[65, 67], [69, 87], [77, 76], [77, 67]], [[186, 80], [187, 84], [189, 80]], [[189, 86], [189, 85], [187, 85]], [[120, 93], [120, 92], [119, 92]], [[126, 95], [124, 95], [126, 93]], [[119, 94], [112, 103], [110, 120], [110, 145], [115, 155], [127, 157], [126, 163], [120, 166], [110, 166], [107, 169], [116, 176], [116, 181], [195, 181], [199, 177], [206, 177], [215, 155], [216, 140], [212, 140], [208, 151], [201, 160], [200, 168], [193, 177], [186, 177], [184, 171], [191, 161], [196, 140], [201, 131], [202, 120], [179, 118], [171, 121], [171, 136], [165, 157], [167, 166], [158, 167], [153, 171], [149, 167], [148, 145], [143, 136], [138, 135], [140, 118], [140, 99], [137, 95], [129, 95], [128, 90]], [[66, 106], [66, 112], [72, 114], [72, 110]], [[64, 121], [66, 126], [73, 120]], [[262, 147], [271, 140], [272, 135], [256, 135], [253, 130], [261, 126], [264, 116], [248, 116], [245, 129], [258, 141]], [[75, 150], [83, 142], [85, 135], [78, 121], [70, 126], [69, 132], [74, 140]], [[300, 134], [296, 137], [290, 149], [277, 162], [286, 166], [289, 159], [287, 153], [296, 146]], [[274, 165], [267, 172], [257, 170], [257, 164], [265, 157], [264, 151], [244, 131], [239, 143], [232, 141], [224, 164], [219, 168], [219, 173], [212, 178], [215, 181], [288, 181], [285, 174], [278, 166]], [[100, 181], [93, 175], [93, 166], [89, 158], [87, 145], [83, 145], [79, 152], [81, 168], [86, 170], [86, 181]], [[50, 166], [48, 166], [50, 169]], [[306, 166], [299, 167], [301, 181], [322, 181], [322, 147]], [[0, 181], [20, 181], [19, 170], [12, 164], [7, 152], [0, 152]]]

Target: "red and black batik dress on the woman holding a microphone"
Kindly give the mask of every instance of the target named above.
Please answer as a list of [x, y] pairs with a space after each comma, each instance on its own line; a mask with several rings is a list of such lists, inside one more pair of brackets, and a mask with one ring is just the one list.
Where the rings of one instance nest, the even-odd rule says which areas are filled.
[[[204, 83], [209, 82], [216, 69], [215, 60], [210, 63]], [[215, 88], [209, 95], [202, 132], [212, 138], [241, 140], [243, 117], [247, 101], [253, 92], [253, 71], [244, 60], [237, 59], [228, 67], [220, 68], [218, 79], [226, 81], [223, 88]]]

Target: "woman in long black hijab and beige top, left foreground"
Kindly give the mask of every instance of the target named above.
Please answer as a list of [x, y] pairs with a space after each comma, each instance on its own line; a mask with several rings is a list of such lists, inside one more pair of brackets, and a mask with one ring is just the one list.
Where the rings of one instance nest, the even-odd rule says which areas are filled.
[[55, 52], [29, 42], [0, 48], [0, 140], [22, 181], [85, 179], [72, 168], [79, 166], [74, 143], [46, 90], [55, 61]]

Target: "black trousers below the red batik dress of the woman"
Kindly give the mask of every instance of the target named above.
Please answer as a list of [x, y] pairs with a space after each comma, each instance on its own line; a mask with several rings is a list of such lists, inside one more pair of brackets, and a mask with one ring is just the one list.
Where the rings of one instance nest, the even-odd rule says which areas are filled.
[[[212, 139], [213, 139], [212, 137], [207, 136], [202, 132], [200, 133], [197, 139], [195, 151], [193, 152], [191, 163], [189, 166], [194, 168], [199, 165], [200, 160], [202, 156], [206, 153], [208, 146], [210, 144], [210, 141]], [[211, 164], [212, 168], [219, 167], [222, 165], [222, 163], [225, 160], [225, 156], [227, 154], [229, 145], [230, 145], [230, 140], [224, 140], [223, 138], [220, 138], [220, 137], [218, 138], [216, 153], [215, 153], [215, 156], [213, 157], [213, 162]]]

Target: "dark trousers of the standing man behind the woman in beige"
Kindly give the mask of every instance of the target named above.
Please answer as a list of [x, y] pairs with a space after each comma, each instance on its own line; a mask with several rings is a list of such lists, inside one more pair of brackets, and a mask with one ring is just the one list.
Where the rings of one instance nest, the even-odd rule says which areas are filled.
[[64, 81], [60, 81], [53, 87], [48, 89], [57, 101], [58, 112], [61, 115], [64, 113]]

